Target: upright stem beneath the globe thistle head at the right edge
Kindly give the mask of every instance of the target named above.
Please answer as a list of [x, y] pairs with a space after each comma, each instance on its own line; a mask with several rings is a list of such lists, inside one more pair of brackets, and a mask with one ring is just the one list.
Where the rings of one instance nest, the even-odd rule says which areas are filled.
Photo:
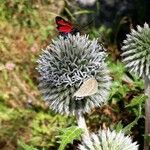
[[[145, 95], [148, 99], [145, 102], [145, 135], [150, 135], [150, 80], [145, 77]], [[149, 142], [144, 141], [144, 150], [149, 150]]]

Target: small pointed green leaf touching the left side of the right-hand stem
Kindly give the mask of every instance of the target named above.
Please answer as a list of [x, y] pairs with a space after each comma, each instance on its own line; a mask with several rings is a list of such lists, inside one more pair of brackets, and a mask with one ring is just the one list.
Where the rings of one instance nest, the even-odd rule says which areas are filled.
[[126, 105], [126, 107], [133, 107], [136, 105], [141, 105], [145, 100], [146, 100], [147, 96], [145, 96], [144, 94], [136, 96], [132, 99], [131, 103]]

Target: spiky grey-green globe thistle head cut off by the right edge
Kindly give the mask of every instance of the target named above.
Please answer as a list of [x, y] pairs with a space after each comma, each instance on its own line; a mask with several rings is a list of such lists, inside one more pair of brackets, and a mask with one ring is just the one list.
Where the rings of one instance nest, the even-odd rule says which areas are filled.
[[126, 67], [139, 75], [150, 79], [150, 28], [148, 24], [144, 27], [137, 26], [137, 31], [131, 30], [127, 34], [122, 47], [123, 62]]

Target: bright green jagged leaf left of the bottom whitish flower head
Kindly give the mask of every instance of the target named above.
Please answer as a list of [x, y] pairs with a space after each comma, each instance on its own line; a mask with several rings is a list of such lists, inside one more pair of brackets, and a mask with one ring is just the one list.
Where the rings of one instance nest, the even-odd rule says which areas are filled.
[[60, 146], [58, 150], [64, 150], [66, 145], [72, 143], [75, 139], [80, 139], [83, 130], [77, 126], [71, 126], [66, 129], [61, 130], [62, 135], [59, 136], [60, 138]]

